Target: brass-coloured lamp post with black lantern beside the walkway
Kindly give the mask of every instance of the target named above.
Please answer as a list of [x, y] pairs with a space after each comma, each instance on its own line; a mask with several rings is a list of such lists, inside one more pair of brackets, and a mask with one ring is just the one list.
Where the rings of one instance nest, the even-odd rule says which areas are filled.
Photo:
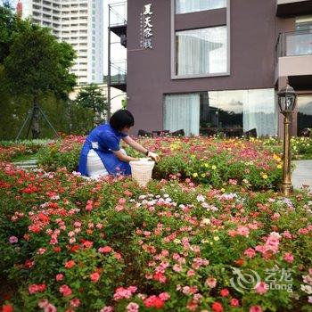
[[296, 105], [297, 94], [295, 90], [287, 85], [278, 92], [278, 105], [283, 114], [283, 183], [282, 193], [288, 196], [292, 193], [291, 185], [291, 115]]

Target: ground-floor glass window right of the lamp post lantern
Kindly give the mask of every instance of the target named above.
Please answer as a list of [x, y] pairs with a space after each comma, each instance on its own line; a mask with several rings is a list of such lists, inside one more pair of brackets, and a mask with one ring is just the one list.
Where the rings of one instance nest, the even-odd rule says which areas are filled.
[[312, 128], [312, 94], [298, 96], [298, 135]]

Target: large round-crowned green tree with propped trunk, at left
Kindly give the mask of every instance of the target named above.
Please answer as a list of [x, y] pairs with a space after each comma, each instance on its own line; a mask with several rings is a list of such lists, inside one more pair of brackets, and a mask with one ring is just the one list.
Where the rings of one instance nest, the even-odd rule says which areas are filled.
[[71, 45], [59, 43], [49, 29], [29, 23], [13, 34], [10, 52], [4, 59], [4, 75], [12, 94], [32, 97], [33, 138], [40, 133], [39, 97], [53, 93], [64, 99], [76, 85], [76, 76], [70, 73], [75, 56]]

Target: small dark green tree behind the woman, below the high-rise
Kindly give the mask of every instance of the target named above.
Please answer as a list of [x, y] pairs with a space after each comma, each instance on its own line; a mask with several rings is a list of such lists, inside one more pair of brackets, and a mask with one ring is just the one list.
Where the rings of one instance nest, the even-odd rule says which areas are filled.
[[107, 111], [107, 102], [102, 90], [97, 85], [90, 84], [82, 88], [76, 101], [82, 107], [94, 111], [94, 125], [98, 125], [103, 121]]

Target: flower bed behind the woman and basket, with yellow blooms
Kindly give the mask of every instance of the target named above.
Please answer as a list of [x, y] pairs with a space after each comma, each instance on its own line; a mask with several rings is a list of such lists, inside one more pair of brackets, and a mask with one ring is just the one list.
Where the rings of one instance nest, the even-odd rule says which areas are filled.
[[[39, 164], [46, 170], [66, 167], [77, 170], [83, 137], [71, 136], [47, 145], [38, 153]], [[158, 138], [140, 141], [151, 151], [160, 152], [161, 160], [154, 177], [191, 177], [194, 182], [214, 187], [239, 184], [253, 190], [278, 189], [282, 178], [281, 155], [268, 151], [262, 141], [217, 138]], [[142, 157], [131, 149], [130, 155]]]

